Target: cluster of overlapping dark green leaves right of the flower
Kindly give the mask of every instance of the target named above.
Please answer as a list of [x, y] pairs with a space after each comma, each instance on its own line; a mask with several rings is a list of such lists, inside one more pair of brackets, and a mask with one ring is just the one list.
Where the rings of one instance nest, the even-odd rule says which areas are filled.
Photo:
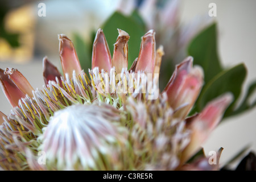
[[255, 81], [248, 89], [245, 100], [236, 109], [236, 103], [241, 95], [247, 70], [244, 64], [238, 64], [228, 69], [221, 66], [217, 52], [216, 23], [200, 32], [192, 40], [188, 46], [188, 54], [194, 57], [194, 65], [200, 65], [204, 69], [205, 75], [204, 87], [191, 114], [201, 111], [209, 101], [226, 92], [233, 93], [234, 101], [226, 110], [224, 117], [242, 113], [256, 105], [256, 101], [251, 105], [249, 104], [249, 98], [256, 90]]

